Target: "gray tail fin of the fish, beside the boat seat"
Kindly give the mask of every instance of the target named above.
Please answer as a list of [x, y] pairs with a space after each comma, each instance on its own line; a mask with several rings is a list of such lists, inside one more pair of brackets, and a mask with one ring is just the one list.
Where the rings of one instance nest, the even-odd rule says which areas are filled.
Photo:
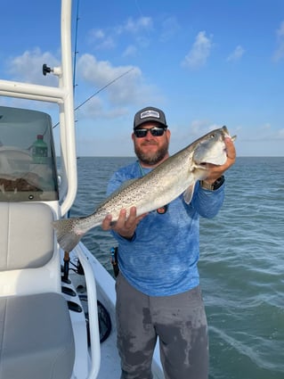
[[76, 224], [78, 218], [64, 218], [53, 221], [57, 241], [63, 251], [72, 251], [85, 232], [80, 231]]

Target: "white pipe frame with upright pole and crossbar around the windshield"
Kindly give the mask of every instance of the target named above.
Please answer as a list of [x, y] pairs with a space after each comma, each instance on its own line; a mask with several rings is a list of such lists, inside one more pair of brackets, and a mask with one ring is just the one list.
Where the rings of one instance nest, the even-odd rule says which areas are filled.
[[[75, 117], [73, 99], [73, 72], [71, 48], [71, 4], [61, 0], [61, 66], [53, 68], [53, 75], [59, 78], [58, 87], [0, 80], [0, 95], [58, 103], [61, 130], [61, 163], [63, 166], [64, 188], [67, 188], [61, 203], [61, 216], [65, 215], [75, 201], [77, 194], [77, 154], [75, 140]], [[66, 182], [66, 183], [65, 183]]]

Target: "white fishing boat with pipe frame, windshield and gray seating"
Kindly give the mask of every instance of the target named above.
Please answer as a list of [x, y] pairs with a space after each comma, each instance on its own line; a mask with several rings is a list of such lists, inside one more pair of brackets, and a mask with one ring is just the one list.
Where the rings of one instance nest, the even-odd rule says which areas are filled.
[[[77, 195], [71, 19], [71, 1], [61, 0], [61, 64], [43, 62], [56, 87], [0, 79], [2, 99], [29, 104], [0, 106], [2, 379], [120, 377], [115, 278], [84, 243], [61, 251], [53, 229]], [[58, 111], [57, 134], [38, 102]], [[152, 371], [164, 377], [158, 346]]]

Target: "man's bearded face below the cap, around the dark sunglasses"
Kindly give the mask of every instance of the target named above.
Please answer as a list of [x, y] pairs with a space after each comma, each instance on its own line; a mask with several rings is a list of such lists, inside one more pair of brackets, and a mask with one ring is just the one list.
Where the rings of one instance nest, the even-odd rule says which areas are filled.
[[[151, 128], [162, 128], [162, 126], [157, 122], [150, 121], [142, 124], [142, 126], [137, 129]], [[146, 136], [142, 137], [135, 136], [133, 133], [134, 152], [137, 158], [142, 161], [142, 163], [150, 166], [157, 165], [161, 161], [164, 161], [168, 157], [170, 136], [171, 133], [167, 129], [164, 130], [162, 136], [152, 136], [150, 131], [147, 132]]]

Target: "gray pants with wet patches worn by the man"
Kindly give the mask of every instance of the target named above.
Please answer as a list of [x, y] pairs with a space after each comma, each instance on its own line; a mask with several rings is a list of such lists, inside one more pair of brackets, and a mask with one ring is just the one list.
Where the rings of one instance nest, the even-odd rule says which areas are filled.
[[151, 379], [159, 338], [166, 379], [207, 379], [207, 317], [199, 286], [173, 296], [152, 297], [118, 275], [118, 351], [120, 379]]

